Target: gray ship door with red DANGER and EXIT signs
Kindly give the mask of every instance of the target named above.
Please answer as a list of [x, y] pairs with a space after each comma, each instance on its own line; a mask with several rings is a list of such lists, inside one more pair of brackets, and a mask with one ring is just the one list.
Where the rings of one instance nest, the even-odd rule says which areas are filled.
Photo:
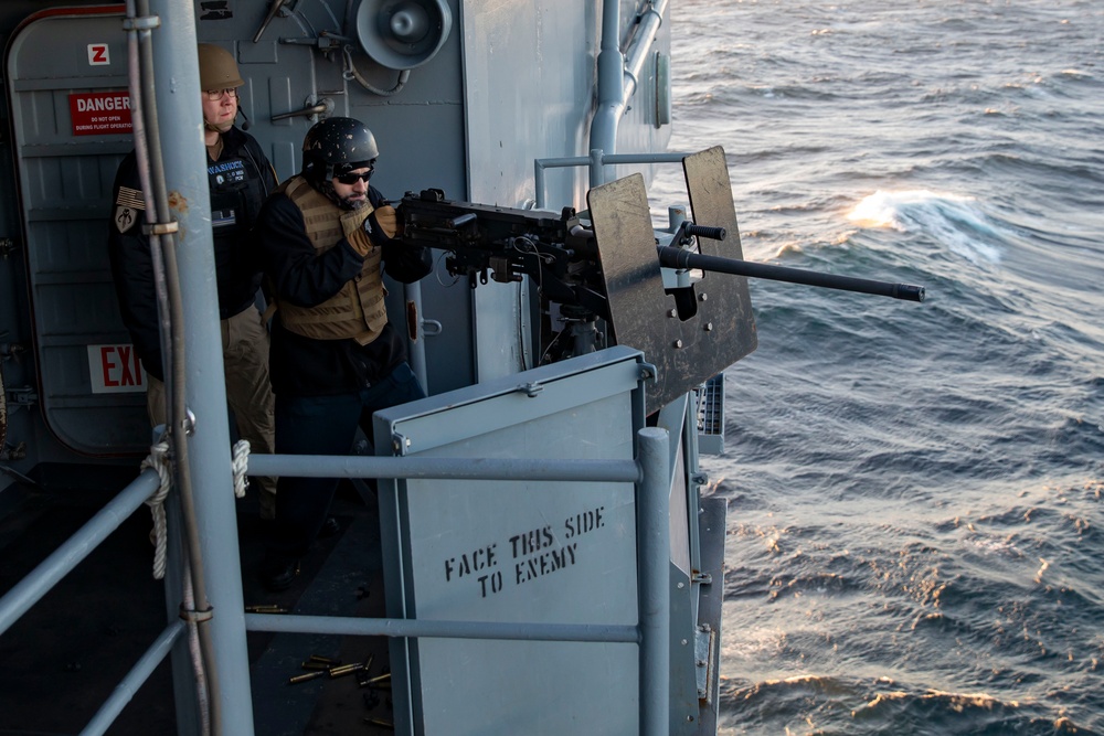
[[107, 257], [112, 184], [131, 149], [121, 6], [31, 15], [7, 51], [39, 403], [84, 455], [149, 446], [146, 376]]

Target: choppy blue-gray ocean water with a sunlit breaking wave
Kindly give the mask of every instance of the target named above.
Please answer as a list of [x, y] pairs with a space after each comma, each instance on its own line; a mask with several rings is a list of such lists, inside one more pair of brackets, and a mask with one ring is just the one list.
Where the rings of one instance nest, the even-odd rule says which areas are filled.
[[[688, 0], [670, 150], [724, 147], [722, 734], [1104, 734], [1104, 3]], [[680, 203], [680, 172], [654, 200]]]

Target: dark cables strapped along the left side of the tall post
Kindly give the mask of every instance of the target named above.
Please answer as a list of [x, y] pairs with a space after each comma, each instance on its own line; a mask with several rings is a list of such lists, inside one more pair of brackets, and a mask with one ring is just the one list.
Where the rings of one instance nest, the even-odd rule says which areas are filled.
[[[157, 100], [153, 90], [153, 52], [151, 30], [157, 23], [150, 22], [148, 0], [127, 2], [129, 22], [128, 73], [135, 126], [135, 156], [138, 161], [139, 178], [146, 198], [146, 222], [153, 226], [168, 223], [172, 215], [164, 183], [164, 167], [161, 154], [160, 129], [157, 118]], [[152, 231], [152, 227], [151, 227]], [[189, 609], [209, 610], [206, 586], [203, 579], [203, 558], [199, 532], [195, 524], [194, 505], [191, 493], [191, 476], [188, 459], [188, 433], [184, 428], [187, 404], [183, 370], [183, 305], [180, 300], [179, 273], [176, 264], [176, 238], [172, 233], [150, 233], [150, 252], [155, 267], [158, 297], [158, 313], [161, 323], [161, 352], [164, 365], [171, 371], [166, 375], [166, 417], [169, 439], [173, 449], [173, 472], [183, 509], [183, 526], [188, 548], [188, 575], [191, 585], [182, 591], [184, 605]], [[197, 602], [199, 606], [197, 606]], [[214, 644], [210, 631], [202, 623], [191, 623], [189, 636], [194, 639], [190, 647], [195, 673], [197, 698], [201, 710], [204, 733], [221, 733], [219, 714], [217, 672], [205, 663], [214, 661]]]

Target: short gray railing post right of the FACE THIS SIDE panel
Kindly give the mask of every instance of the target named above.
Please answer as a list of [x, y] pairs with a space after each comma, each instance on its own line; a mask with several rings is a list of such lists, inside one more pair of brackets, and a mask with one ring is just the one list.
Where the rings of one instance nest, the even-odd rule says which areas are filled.
[[640, 734], [670, 730], [671, 531], [669, 434], [641, 429], [637, 492], [637, 561], [640, 598]]

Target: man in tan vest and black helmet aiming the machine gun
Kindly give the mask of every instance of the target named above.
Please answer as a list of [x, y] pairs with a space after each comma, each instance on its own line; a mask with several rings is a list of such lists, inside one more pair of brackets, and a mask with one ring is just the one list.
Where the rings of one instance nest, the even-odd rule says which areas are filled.
[[[383, 271], [410, 284], [429, 250], [393, 239], [395, 211], [369, 181], [380, 151], [359, 120], [325, 119], [302, 141], [302, 170], [265, 203], [257, 236], [277, 309], [270, 373], [276, 451], [344, 455], [372, 414], [425, 396], [388, 321]], [[322, 530], [333, 478], [280, 478], [261, 575], [289, 587]]]

